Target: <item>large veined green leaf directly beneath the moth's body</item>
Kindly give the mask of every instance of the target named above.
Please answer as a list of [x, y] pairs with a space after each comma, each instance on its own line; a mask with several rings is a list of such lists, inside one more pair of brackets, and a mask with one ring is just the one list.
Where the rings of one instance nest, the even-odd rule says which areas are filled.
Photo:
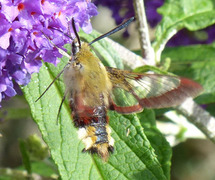
[[[100, 41], [97, 44], [99, 44], [97, 51], [103, 54], [105, 46]], [[114, 53], [110, 50], [108, 57], [115, 58]], [[117, 60], [119, 61], [119, 59]], [[108, 58], [105, 61], [109, 62]], [[116, 62], [115, 59], [114, 62]], [[149, 140], [153, 139], [153, 136], [160, 136], [160, 133], [157, 130], [153, 131], [148, 138], [141, 125], [141, 122], [154, 121], [154, 116], [144, 116], [143, 112], [138, 118], [135, 114], [123, 116], [109, 112], [112, 136], [115, 139], [115, 152], [110, 156], [109, 161], [104, 163], [97, 155], [92, 156], [81, 152], [84, 146], [78, 140], [77, 129], [73, 126], [67, 103], [63, 104], [59, 124], [56, 125], [57, 113], [64, 92], [64, 85], [61, 80], [54, 83], [46, 94], [35, 103], [35, 100], [53, 81], [65, 63], [66, 60], [62, 59], [57, 67], [44, 64], [39, 74], [33, 74], [31, 83], [23, 89], [32, 116], [38, 124], [44, 141], [49, 146], [61, 178], [93, 180], [169, 179], [169, 166], [166, 165], [170, 163], [169, 157], [159, 153], [161, 150], [155, 151], [153, 146], [157, 143], [153, 142], [152, 146]], [[154, 128], [155, 125], [152, 129]], [[147, 131], [150, 131], [150, 127]], [[160, 140], [157, 141], [160, 142]], [[161, 144], [163, 144], [162, 141]], [[170, 150], [168, 144], [165, 146], [163, 144], [161, 147]], [[166, 153], [171, 155], [169, 150]]]

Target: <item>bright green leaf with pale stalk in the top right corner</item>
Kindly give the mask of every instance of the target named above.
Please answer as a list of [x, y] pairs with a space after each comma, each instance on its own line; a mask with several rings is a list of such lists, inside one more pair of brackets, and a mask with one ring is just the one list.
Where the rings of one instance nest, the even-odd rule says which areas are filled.
[[157, 61], [165, 44], [177, 31], [182, 28], [196, 31], [215, 23], [214, 0], [166, 0], [158, 12], [163, 18], [153, 45]]

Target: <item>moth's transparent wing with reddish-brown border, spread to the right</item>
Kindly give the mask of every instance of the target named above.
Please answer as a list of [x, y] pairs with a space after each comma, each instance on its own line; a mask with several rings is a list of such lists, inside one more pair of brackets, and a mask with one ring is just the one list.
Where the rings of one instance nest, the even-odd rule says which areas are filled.
[[120, 113], [176, 106], [203, 90], [201, 85], [187, 78], [106, 69], [113, 84], [110, 109]]

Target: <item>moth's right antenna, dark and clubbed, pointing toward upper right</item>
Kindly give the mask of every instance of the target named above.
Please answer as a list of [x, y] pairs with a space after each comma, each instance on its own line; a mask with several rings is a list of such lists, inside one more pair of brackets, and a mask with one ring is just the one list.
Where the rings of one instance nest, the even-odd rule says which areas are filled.
[[91, 41], [89, 43], [89, 45], [93, 44], [94, 42], [100, 40], [100, 39], [103, 39], [107, 36], [110, 36], [111, 34], [117, 32], [117, 31], [120, 31], [121, 29], [127, 27], [135, 18], [134, 17], [131, 17], [130, 19], [127, 19], [125, 22], [119, 24], [117, 27], [115, 27], [114, 29], [110, 30], [109, 32], [97, 37], [96, 39], [94, 39], [93, 41]]

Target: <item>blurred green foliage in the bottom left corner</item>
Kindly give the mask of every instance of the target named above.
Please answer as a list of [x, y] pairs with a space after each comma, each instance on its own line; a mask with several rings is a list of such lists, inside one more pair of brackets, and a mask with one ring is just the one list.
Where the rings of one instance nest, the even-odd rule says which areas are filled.
[[57, 179], [54, 162], [48, 158], [48, 149], [37, 135], [19, 139], [23, 165], [16, 169], [0, 168], [0, 180]]

